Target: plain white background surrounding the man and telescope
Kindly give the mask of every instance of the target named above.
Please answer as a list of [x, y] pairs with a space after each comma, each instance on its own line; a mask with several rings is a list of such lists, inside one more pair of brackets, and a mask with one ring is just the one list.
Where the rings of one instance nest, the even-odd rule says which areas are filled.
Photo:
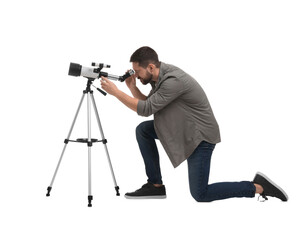
[[[2, 1], [0, 238], [307, 237], [307, 12], [306, 1]], [[135, 140], [135, 127], [146, 119], [96, 91], [121, 196], [96, 144], [94, 200], [87, 207], [87, 148], [70, 143], [46, 198], [86, 85], [68, 76], [69, 63], [108, 63], [109, 73], [122, 75], [131, 54], [145, 45], [207, 93], [222, 135], [210, 182], [252, 180], [262, 171], [286, 190], [289, 202], [196, 203], [186, 163], [173, 169], [159, 143], [168, 198], [126, 200], [125, 192], [146, 182]], [[73, 139], [86, 137], [85, 106]], [[95, 121], [92, 136], [99, 137]]]

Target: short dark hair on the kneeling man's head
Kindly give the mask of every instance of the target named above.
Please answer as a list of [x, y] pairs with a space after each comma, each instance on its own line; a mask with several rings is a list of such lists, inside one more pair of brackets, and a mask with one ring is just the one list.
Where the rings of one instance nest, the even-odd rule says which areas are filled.
[[146, 68], [150, 63], [153, 63], [156, 67], [160, 67], [158, 55], [154, 49], [150, 47], [141, 47], [137, 49], [130, 57], [130, 62], [139, 63], [140, 67]]

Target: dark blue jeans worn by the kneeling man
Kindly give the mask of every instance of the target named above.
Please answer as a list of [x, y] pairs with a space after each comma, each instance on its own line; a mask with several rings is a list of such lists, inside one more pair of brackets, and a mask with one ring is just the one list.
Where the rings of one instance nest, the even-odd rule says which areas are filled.
[[[142, 154], [148, 182], [162, 184], [159, 154], [155, 139], [158, 139], [154, 121], [146, 121], [136, 128], [136, 137]], [[215, 144], [201, 142], [188, 157], [189, 188], [198, 202], [211, 202], [232, 197], [254, 197], [256, 188], [252, 182], [220, 182], [208, 184], [210, 163]]]

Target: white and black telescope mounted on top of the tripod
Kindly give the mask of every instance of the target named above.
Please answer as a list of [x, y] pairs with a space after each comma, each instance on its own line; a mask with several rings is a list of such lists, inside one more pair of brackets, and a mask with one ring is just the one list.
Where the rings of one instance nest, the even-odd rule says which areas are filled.
[[130, 69], [123, 76], [117, 76], [101, 71], [103, 68], [110, 68], [110, 65], [108, 64], [92, 62], [92, 66], [96, 68], [84, 67], [78, 63], [70, 63], [68, 75], [75, 77], [82, 76], [91, 80], [100, 77], [106, 77], [110, 80], [124, 82], [126, 78], [130, 77], [135, 73], [134, 70]]

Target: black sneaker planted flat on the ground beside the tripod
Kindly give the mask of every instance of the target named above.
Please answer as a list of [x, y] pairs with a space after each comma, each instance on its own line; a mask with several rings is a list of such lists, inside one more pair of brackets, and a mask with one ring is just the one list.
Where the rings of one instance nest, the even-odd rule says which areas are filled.
[[152, 183], [147, 183], [135, 192], [126, 193], [125, 197], [129, 199], [163, 199], [166, 198], [166, 188], [164, 185], [155, 187]]

